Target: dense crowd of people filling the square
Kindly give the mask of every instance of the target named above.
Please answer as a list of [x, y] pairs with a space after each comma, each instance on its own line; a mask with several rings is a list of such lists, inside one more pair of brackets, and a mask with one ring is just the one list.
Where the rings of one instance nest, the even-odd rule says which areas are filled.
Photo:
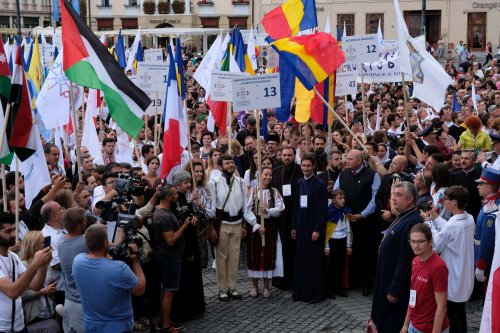
[[165, 179], [153, 117], [126, 159], [109, 117], [96, 125], [104, 164], [46, 142], [52, 184], [30, 207], [22, 175], [17, 203], [15, 172], [4, 177], [0, 332], [145, 331], [157, 314], [160, 332], [177, 332], [206, 312], [202, 269], [215, 269], [220, 302], [243, 298], [242, 248], [252, 298], [279, 288], [318, 303], [360, 288], [373, 293], [375, 331], [467, 331], [499, 223], [495, 59], [449, 59], [441, 110], [406, 98], [411, 83], [365, 84], [335, 101], [350, 131], [338, 119], [299, 124], [292, 106], [286, 122], [267, 110], [260, 132], [260, 113], [233, 113], [228, 138], [207, 128], [192, 78], [201, 54], [183, 54], [190, 151]]

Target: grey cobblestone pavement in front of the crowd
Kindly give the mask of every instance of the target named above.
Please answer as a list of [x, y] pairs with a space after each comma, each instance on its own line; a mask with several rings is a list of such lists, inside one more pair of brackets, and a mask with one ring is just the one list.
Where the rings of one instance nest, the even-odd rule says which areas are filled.
[[[371, 310], [371, 297], [363, 297], [361, 290], [350, 290], [349, 297], [326, 299], [319, 304], [293, 302], [291, 291], [271, 289], [269, 299], [260, 293], [250, 297], [251, 281], [247, 276], [242, 249], [237, 289], [243, 300], [220, 302], [217, 299], [215, 270], [203, 270], [206, 314], [183, 324], [187, 332], [331, 332], [362, 333]], [[477, 332], [481, 322], [482, 302], [467, 304], [469, 332]], [[382, 332], [381, 332], [382, 333]]]

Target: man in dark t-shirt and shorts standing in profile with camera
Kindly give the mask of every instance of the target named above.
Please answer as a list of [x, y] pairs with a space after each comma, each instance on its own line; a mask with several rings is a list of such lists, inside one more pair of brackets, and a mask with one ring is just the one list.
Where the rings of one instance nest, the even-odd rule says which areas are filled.
[[154, 234], [159, 245], [157, 261], [162, 279], [160, 332], [175, 331], [170, 312], [175, 292], [179, 289], [184, 232], [197, 222], [195, 217], [189, 216], [182, 225], [179, 223], [173, 212], [178, 196], [172, 185], [161, 187], [158, 193], [160, 204], [153, 215]]

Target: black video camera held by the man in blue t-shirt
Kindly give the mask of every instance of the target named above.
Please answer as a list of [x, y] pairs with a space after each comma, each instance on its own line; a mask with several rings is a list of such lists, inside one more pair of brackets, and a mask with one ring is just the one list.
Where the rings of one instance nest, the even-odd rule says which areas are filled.
[[139, 260], [143, 260], [143, 247], [144, 242], [141, 236], [139, 236], [139, 231], [135, 226], [135, 216], [129, 214], [118, 214], [118, 222], [115, 226], [116, 229], [120, 227], [123, 229], [123, 236], [120, 244], [111, 246], [108, 250], [109, 255], [113, 260], [121, 260], [127, 264], [130, 264], [130, 248], [129, 244], [137, 244]]

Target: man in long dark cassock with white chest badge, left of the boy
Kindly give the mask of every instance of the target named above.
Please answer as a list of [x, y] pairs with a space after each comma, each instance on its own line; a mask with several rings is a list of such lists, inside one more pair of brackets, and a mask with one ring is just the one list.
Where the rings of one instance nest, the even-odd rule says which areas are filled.
[[295, 198], [292, 238], [297, 240], [293, 274], [293, 300], [318, 303], [325, 298], [324, 243], [328, 192], [314, 175], [314, 155], [301, 161], [304, 178], [300, 179]]

